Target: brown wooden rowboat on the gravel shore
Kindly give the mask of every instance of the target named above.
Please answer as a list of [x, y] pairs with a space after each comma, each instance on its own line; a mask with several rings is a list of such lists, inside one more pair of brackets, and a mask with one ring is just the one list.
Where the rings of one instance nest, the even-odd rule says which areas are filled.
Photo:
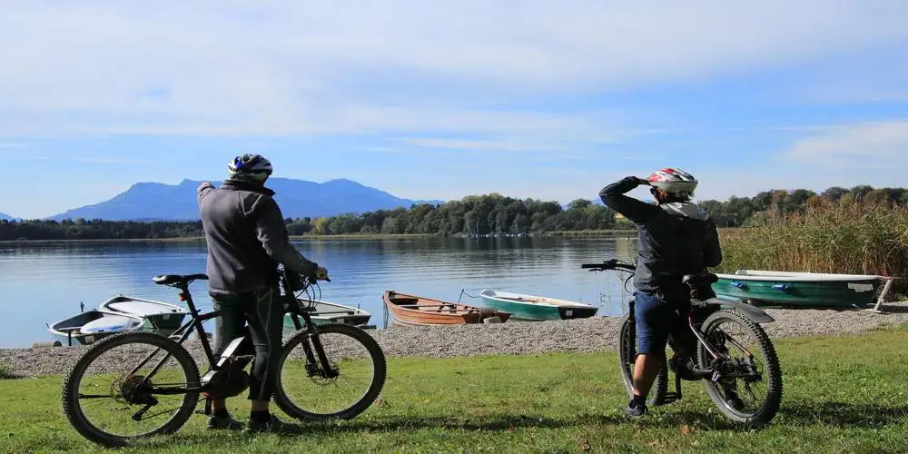
[[401, 325], [463, 325], [482, 323], [491, 317], [507, 321], [510, 313], [466, 304], [433, 300], [416, 295], [385, 291], [382, 296], [394, 322]]

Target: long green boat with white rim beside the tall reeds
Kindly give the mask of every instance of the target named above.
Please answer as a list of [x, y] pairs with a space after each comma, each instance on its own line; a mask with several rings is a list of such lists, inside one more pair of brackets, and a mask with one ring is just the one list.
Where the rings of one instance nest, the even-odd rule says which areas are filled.
[[891, 278], [863, 274], [760, 270], [716, 276], [713, 291], [719, 298], [785, 308], [878, 307], [892, 282]]

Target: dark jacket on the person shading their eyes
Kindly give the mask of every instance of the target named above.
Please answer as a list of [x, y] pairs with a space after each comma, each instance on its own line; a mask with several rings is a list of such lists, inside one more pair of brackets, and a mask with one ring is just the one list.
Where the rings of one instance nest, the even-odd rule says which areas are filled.
[[599, 192], [603, 203], [637, 224], [637, 290], [678, 291], [685, 274], [722, 262], [716, 224], [706, 210], [691, 202], [655, 205], [625, 195], [637, 185], [637, 177], [628, 176]]

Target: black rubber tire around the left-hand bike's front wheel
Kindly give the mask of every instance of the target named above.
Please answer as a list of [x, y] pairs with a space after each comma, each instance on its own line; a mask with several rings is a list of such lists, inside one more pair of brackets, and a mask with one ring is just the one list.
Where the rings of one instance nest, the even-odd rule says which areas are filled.
[[280, 407], [281, 410], [295, 419], [306, 419], [313, 421], [323, 421], [329, 419], [352, 419], [368, 409], [372, 402], [374, 402], [379, 397], [381, 389], [385, 383], [385, 376], [387, 372], [384, 352], [381, 351], [379, 343], [372, 339], [369, 333], [350, 325], [330, 323], [316, 327], [316, 331], [319, 334], [335, 333], [349, 336], [354, 341], [359, 342], [363, 347], [366, 348], [367, 351], [369, 351], [370, 359], [374, 367], [372, 380], [370, 381], [369, 387], [360, 397], [360, 400], [355, 401], [352, 405], [350, 405], [350, 407], [331, 413], [319, 413], [311, 410], [305, 410], [298, 406], [295, 402], [293, 402], [290, 397], [287, 396], [287, 393], [283, 388], [281, 370], [283, 370], [284, 362], [285, 360], [287, 360], [287, 356], [290, 354], [291, 350], [294, 347], [300, 345], [302, 341], [307, 341], [311, 336], [311, 332], [309, 330], [302, 330], [297, 332], [296, 334], [293, 334], [291, 338], [284, 344], [283, 353], [281, 354], [281, 360], [278, 366], [278, 376], [281, 378], [278, 380], [277, 386], [274, 390], [274, 401], [278, 404], [278, 407]]

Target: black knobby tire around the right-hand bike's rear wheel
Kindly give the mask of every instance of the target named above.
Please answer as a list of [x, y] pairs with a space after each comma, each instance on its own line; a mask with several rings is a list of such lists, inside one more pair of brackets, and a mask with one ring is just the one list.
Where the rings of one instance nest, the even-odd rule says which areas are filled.
[[[725, 399], [719, 390], [719, 386], [716, 383], [704, 380], [706, 392], [726, 418], [731, 419], [736, 423], [744, 424], [747, 427], [762, 426], [775, 418], [775, 413], [778, 412], [779, 407], [782, 405], [782, 369], [779, 366], [779, 359], [775, 353], [775, 347], [760, 325], [755, 321], [750, 320], [750, 318], [741, 311], [735, 311], [734, 309], [716, 311], [706, 318], [701, 330], [706, 339], [709, 338], [709, 333], [722, 321], [734, 321], [744, 326], [747, 331], [750, 331], [750, 334], [755, 336], [757, 343], [760, 345], [760, 349], [763, 350], [766, 361], [766, 373], [764, 374], [764, 378], [767, 380], [766, 399], [760, 409], [756, 410], [755, 413], [745, 414], [732, 409], [725, 402]], [[703, 344], [699, 344], [696, 357], [700, 367], [705, 368], [709, 361], [709, 353], [706, 351]]]

